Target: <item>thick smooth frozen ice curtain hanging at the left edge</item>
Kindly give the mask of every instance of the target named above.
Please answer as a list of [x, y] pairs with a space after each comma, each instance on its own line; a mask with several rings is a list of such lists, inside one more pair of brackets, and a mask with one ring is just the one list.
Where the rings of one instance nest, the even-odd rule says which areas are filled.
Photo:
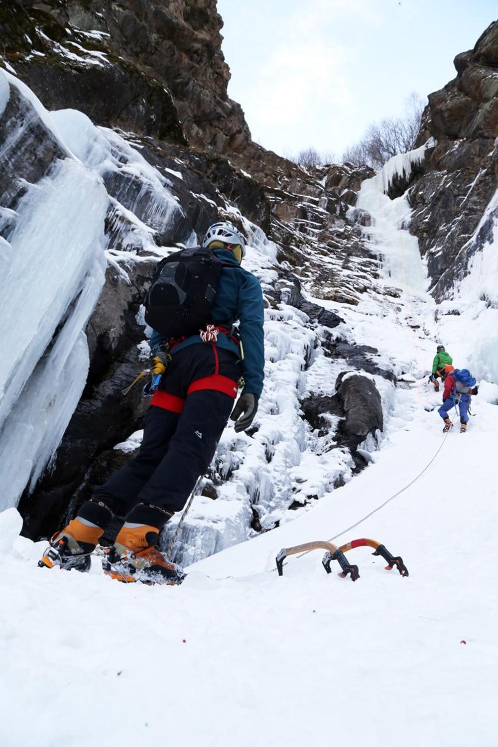
[[104, 283], [107, 195], [66, 159], [19, 202], [1, 255], [0, 495], [15, 505], [52, 458], [83, 391], [87, 323]]

